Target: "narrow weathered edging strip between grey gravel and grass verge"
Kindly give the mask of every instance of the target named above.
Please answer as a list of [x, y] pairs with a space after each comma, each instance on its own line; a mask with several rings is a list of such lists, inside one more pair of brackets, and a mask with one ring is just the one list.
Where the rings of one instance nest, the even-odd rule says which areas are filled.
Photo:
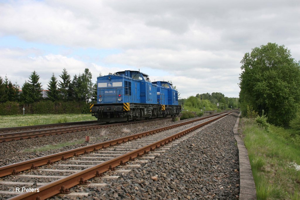
[[256, 199], [256, 189], [251, 170], [251, 165], [248, 157], [247, 149], [244, 142], [241, 140], [238, 134], [238, 123], [240, 121], [240, 115], [236, 120], [233, 128], [234, 138], [238, 144], [238, 157], [240, 165], [240, 200], [244, 199]]

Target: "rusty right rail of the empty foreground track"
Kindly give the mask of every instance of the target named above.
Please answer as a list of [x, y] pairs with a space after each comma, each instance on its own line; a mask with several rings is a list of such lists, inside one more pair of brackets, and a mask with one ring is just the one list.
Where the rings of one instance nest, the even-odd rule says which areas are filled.
[[[233, 112], [233, 111], [232, 111]], [[41, 187], [39, 187], [39, 192], [26, 192], [22, 193], [20, 195], [14, 196], [10, 198], [10, 200], [14, 199], [23, 199], [23, 200], [40, 200], [40, 199], [46, 199], [49, 197], [52, 197], [56, 194], [59, 194], [62, 190], [71, 188], [73, 186], [79, 185], [80, 180], [82, 181], [82, 178], [84, 182], [88, 179], [91, 179], [93, 177], [97, 177], [101, 175], [101, 173], [104, 173], [109, 170], [114, 170], [115, 167], [119, 165], [124, 165], [125, 162], [132, 160], [136, 157], [140, 157], [143, 154], [147, 154], [149, 151], [153, 151], [156, 148], [159, 148], [174, 139], [180, 138], [183, 135], [192, 132], [202, 126], [205, 126], [206, 124], [209, 124], [215, 120], [218, 120], [228, 114], [231, 114], [232, 112], [226, 113], [222, 116], [216, 117], [212, 120], [206, 121], [204, 123], [198, 124], [196, 126], [193, 126], [189, 129], [185, 129], [184, 131], [181, 131], [179, 133], [173, 134], [171, 136], [168, 136], [164, 139], [161, 139], [159, 141], [156, 141], [152, 144], [146, 145], [144, 147], [141, 147], [139, 149], [133, 150], [131, 152], [125, 153], [121, 156], [115, 157], [113, 159], [107, 160], [105, 162], [102, 162], [98, 165], [86, 168], [82, 171], [76, 172], [74, 174], [68, 175], [67, 177], [55, 180], [53, 182], [47, 183]]]

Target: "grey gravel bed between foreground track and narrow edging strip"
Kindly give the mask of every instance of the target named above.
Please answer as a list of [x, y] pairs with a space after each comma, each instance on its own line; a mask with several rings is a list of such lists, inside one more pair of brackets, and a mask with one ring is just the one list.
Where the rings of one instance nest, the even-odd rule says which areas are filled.
[[[119, 180], [96, 180], [106, 187], [76, 186], [73, 191], [89, 192], [82, 199], [94, 200], [238, 199], [238, 149], [232, 132], [237, 116], [235, 112], [198, 131]], [[52, 199], [58, 198], [63, 197]]]

